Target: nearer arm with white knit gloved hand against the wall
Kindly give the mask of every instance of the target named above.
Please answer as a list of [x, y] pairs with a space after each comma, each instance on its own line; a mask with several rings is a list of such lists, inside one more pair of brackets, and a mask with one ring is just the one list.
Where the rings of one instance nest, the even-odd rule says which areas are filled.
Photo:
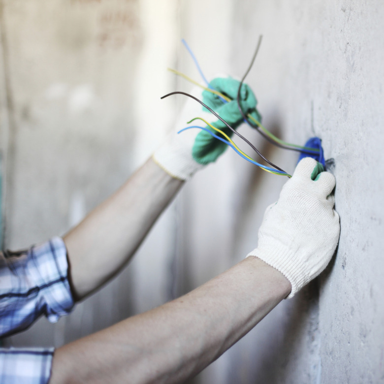
[[179, 383], [219, 357], [333, 255], [335, 179], [322, 171], [300, 161], [248, 258], [179, 299], [59, 348], [51, 383]]

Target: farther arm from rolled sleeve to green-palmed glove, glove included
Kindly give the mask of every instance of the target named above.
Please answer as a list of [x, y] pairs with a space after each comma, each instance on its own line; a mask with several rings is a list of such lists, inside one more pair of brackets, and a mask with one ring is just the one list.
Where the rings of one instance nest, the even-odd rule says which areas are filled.
[[[236, 101], [239, 81], [227, 77], [215, 79], [214, 83], [215, 89], [233, 100], [223, 103], [209, 92], [201, 94], [199, 88], [195, 90], [196, 96], [202, 96], [213, 110], [237, 128], [243, 122]], [[245, 84], [243, 89], [240, 99], [244, 113], [260, 119], [255, 95]], [[175, 124], [175, 131], [153, 157], [119, 191], [64, 236], [75, 300], [92, 293], [113, 277], [133, 256], [183, 181], [216, 161], [227, 148], [205, 131], [194, 129], [176, 134], [189, 120], [202, 115], [208, 115], [205, 116], [208, 120], [217, 120], [214, 115], [204, 113], [195, 100], [188, 99]], [[223, 128], [219, 123], [214, 124]]]

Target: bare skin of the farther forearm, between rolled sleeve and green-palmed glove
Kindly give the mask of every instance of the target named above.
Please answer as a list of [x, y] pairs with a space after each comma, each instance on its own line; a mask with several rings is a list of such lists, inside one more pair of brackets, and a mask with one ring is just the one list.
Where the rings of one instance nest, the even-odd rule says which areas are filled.
[[182, 184], [150, 159], [64, 236], [77, 299], [119, 271]]

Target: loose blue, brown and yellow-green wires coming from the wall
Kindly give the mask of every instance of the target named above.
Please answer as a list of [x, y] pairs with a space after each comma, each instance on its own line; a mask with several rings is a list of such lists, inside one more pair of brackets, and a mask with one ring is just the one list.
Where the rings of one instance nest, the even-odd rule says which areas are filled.
[[[273, 135], [271, 132], [269, 132], [266, 128], [264, 128], [262, 126], [262, 124], [257, 121], [251, 114], [248, 114], [247, 116], [244, 114], [242, 108], [241, 108], [241, 105], [240, 105], [240, 92], [241, 92], [241, 87], [244, 83], [244, 80], [245, 78], [247, 77], [249, 71], [251, 70], [254, 62], [255, 62], [255, 59], [256, 59], [256, 55], [257, 55], [257, 52], [258, 52], [258, 49], [260, 47], [260, 44], [261, 44], [261, 39], [262, 39], [262, 36], [259, 37], [258, 39], [258, 43], [257, 43], [257, 46], [256, 46], [256, 50], [255, 50], [255, 53], [254, 53], [254, 56], [252, 58], [252, 61], [251, 61], [251, 64], [249, 65], [249, 67], [247, 68], [247, 71], [246, 73], [244, 74], [244, 76], [242, 77], [241, 81], [240, 81], [240, 84], [239, 84], [239, 88], [238, 88], [238, 92], [237, 92], [237, 105], [238, 105], [238, 108], [239, 108], [239, 111], [241, 113], [241, 116], [243, 117], [244, 119], [244, 122], [246, 122], [250, 127], [252, 128], [256, 128], [256, 130], [266, 139], [268, 140], [269, 142], [271, 142], [272, 144], [280, 147], [280, 148], [284, 148], [284, 149], [288, 149], [288, 150], [292, 150], [292, 151], [298, 151], [298, 152], [301, 152], [301, 153], [307, 153], [307, 154], [317, 154], [319, 153], [319, 149], [314, 149], [314, 148], [310, 148], [310, 147], [303, 147], [303, 146], [299, 146], [299, 145], [295, 145], [295, 144], [290, 144], [290, 143], [287, 143], [281, 139], [279, 139], [278, 137], [276, 137], [275, 135]], [[196, 59], [196, 57], [194, 56], [191, 48], [189, 47], [189, 45], [187, 44], [187, 42], [183, 39], [182, 40], [183, 44], [185, 45], [185, 47], [187, 48], [188, 52], [190, 53], [191, 57], [192, 57], [192, 60], [194, 62], [194, 64], [196, 65], [197, 67], [197, 70], [198, 72], [200, 73], [200, 76], [201, 78], [203, 79], [203, 81], [205, 82], [206, 84], [206, 87], [200, 85], [198, 82], [192, 80], [190, 77], [188, 77], [187, 75], [185, 75], [184, 73], [181, 73], [179, 71], [176, 71], [174, 69], [170, 69], [168, 68], [168, 70], [170, 70], [171, 72], [175, 73], [176, 75], [178, 76], [181, 76], [183, 78], [185, 78], [186, 80], [188, 80], [189, 82], [191, 82], [192, 84], [195, 84], [201, 88], [203, 88], [204, 90], [208, 91], [208, 92], [211, 92], [215, 95], [217, 95], [218, 97], [220, 97], [220, 99], [223, 101], [223, 103], [226, 103], [226, 102], [229, 102], [229, 101], [232, 101], [231, 98], [229, 98], [228, 96], [225, 96], [224, 94], [218, 92], [217, 90], [213, 89], [213, 87], [210, 85], [210, 83], [207, 81], [206, 77], [204, 76], [204, 73], [202, 72], [201, 68], [200, 68], [200, 65], [198, 64], [198, 61]], [[208, 128], [205, 128], [205, 127], [201, 127], [201, 126], [190, 126], [190, 127], [186, 127], [184, 129], [181, 129], [178, 133], [181, 133], [183, 131], [185, 131], [186, 129], [192, 129], [192, 128], [199, 128], [199, 129], [202, 129], [204, 131], [206, 131], [207, 133], [209, 133], [211, 136], [213, 136], [214, 138], [224, 142], [226, 145], [228, 145], [229, 147], [231, 147], [239, 156], [241, 156], [243, 159], [257, 165], [258, 167], [260, 167], [261, 169], [263, 169], [264, 171], [266, 172], [269, 172], [269, 173], [272, 173], [272, 174], [275, 174], [275, 175], [282, 175], [282, 176], [288, 176], [288, 177], [291, 177], [287, 172], [285, 172], [283, 169], [279, 168], [277, 165], [273, 164], [271, 161], [267, 160], [256, 148], [255, 146], [253, 146], [244, 136], [242, 136], [239, 132], [237, 132], [235, 129], [233, 129], [232, 127], [230, 127], [229, 124], [227, 124], [227, 122], [225, 122], [215, 111], [213, 111], [211, 108], [209, 108], [206, 104], [204, 104], [201, 100], [199, 100], [198, 98], [190, 95], [190, 94], [187, 94], [185, 92], [172, 92], [170, 94], [167, 94], [165, 96], [162, 96], [161, 98], [164, 98], [164, 97], [167, 97], [167, 96], [171, 96], [171, 95], [175, 95], [175, 94], [182, 94], [182, 95], [185, 95], [185, 96], [189, 96], [189, 97], [192, 97], [193, 99], [195, 99], [196, 101], [198, 101], [200, 104], [202, 104], [205, 108], [207, 108], [211, 113], [213, 113], [216, 117], [218, 117], [224, 124], [226, 127], [228, 127], [229, 129], [231, 129], [236, 135], [238, 135], [241, 139], [243, 139], [247, 144], [249, 144], [251, 146], [251, 148], [253, 150], [256, 151], [256, 153], [263, 159], [265, 160], [268, 164], [270, 164], [273, 168], [271, 167], [268, 167], [266, 165], [262, 165], [260, 163], [258, 163], [257, 161], [253, 160], [251, 157], [249, 157], [248, 155], [246, 155], [243, 151], [241, 151], [239, 149], [239, 147], [230, 139], [230, 137], [228, 135], [226, 135], [221, 129], [218, 129], [214, 126], [212, 126], [211, 124], [207, 123], [204, 119], [201, 119], [201, 118], [194, 118], [192, 119], [190, 122], [188, 122], [188, 124], [192, 123], [192, 121], [195, 121], [195, 120], [201, 120], [203, 121], [207, 126], [209, 126], [210, 128], [212, 128], [214, 131], [218, 132], [220, 134], [217, 135], [215, 134], [213, 131], [211, 131], [210, 129]], [[251, 123], [252, 121], [252, 123]]]

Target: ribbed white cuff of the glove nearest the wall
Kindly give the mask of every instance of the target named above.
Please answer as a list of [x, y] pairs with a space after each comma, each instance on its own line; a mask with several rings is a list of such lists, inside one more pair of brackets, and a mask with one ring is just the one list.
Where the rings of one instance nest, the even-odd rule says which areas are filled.
[[293, 297], [297, 291], [311, 281], [306, 268], [294, 252], [287, 250], [286, 246], [278, 245], [271, 249], [254, 249], [248, 256], [256, 256], [271, 267], [281, 272], [289, 281], [292, 289], [287, 298]]

